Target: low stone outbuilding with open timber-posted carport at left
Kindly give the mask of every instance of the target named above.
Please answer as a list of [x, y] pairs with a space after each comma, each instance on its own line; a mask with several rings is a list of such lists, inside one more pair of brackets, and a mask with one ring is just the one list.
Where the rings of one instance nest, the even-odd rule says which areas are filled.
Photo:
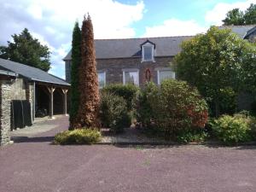
[[[38, 109], [45, 108], [49, 118], [67, 114], [67, 90], [70, 84], [38, 68], [0, 59], [0, 143], [10, 141], [14, 101], [27, 101], [28, 117], [35, 119]], [[22, 114], [23, 115], [23, 114]], [[23, 117], [23, 116], [22, 116]], [[19, 118], [19, 117], [18, 117]]]

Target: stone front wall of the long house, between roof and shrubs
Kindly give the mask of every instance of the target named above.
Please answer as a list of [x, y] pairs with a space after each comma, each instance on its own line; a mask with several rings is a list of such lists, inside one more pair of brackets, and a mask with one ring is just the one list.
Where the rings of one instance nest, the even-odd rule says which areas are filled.
[[[123, 71], [137, 69], [139, 73], [139, 85], [143, 87], [146, 82], [146, 70], [149, 69], [151, 80], [157, 84], [157, 70], [164, 67], [171, 67], [172, 56], [154, 57], [154, 61], [142, 61], [141, 57], [97, 59], [96, 68], [98, 72], [106, 73], [106, 84], [122, 84]], [[71, 62], [66, 61], [66, 80], [70, 82]]]

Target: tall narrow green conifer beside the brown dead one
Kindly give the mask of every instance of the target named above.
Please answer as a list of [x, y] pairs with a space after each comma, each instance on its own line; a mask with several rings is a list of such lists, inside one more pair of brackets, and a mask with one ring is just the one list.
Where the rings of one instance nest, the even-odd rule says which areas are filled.
[[79, 65], [81, 64], [81, 30], [79, 22], [75, 22], [73, 27], [72, 40], [72, 65], [71, 65], [71, 106], [69, 111], [70, 129], [78, 124], [77, 113], [79, 110]]

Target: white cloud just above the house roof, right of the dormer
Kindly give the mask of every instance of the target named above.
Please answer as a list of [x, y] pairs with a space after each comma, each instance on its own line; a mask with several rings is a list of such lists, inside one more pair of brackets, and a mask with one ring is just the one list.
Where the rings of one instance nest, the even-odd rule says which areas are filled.
[[143, 37], [186, 36], [206, 32], [207, 27], [200, 26], [195, 20], [165, 20], [159, 26], [147, 26]]

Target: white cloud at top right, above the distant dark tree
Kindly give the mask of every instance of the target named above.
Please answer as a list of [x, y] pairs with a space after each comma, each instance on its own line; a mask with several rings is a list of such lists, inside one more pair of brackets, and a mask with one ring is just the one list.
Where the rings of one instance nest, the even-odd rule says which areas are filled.
[[240, 1], [235, 3], [217, 3], [213, 9], [207, 11], [205, 20], [208, 25], [221, 26], [223, 25], [222, 20], [224, 20], [228, 11], [236, 8], [244, 11], [251, 3], [256, 3], [256, 0], [247, 0], [245, 2]]

